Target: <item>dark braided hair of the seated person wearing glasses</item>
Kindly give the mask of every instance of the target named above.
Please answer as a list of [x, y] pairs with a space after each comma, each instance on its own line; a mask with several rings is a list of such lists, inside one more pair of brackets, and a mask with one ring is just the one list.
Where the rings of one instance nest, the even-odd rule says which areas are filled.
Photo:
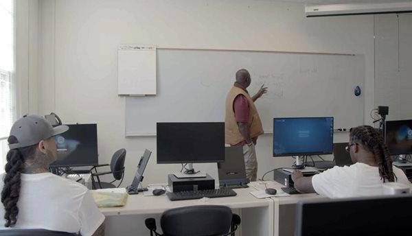
[[395, 181], [396, 176], [393, 174], [391, 155], [383, 141], [382, 134], [371, 126], [358, 126], [351, 130], [350, 141], [363, 145], [366, 150], [374, 154], [383, 182]]

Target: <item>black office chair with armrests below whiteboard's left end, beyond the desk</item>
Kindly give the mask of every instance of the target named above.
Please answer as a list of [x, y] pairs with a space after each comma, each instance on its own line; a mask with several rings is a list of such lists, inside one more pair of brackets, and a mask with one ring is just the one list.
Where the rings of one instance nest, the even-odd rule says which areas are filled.
[[[109, 189], [109, 188], [115, 188], [116, 186], [113, 185], [113, 182], [116, 180], [120, 180], [119, 187], [122, 185], [123, 178], [124, 178], [124, 159], [126, 158], [126, 150], [124, 148], [117, 150], [111, 159], [110, 163], [110, 172], [98, 172], [98, 167], [104, 167], [108, 166], [108, 164], [104, 165], [95, 165], [91, 169], [91, 182], [92, 182], [92, 187], [93, 189]], [[94, 170], [94, 173], [93, 173]], [[100, 176], [104, 176], [106, 174], [113, 174], [113, 178], [115, 178], [112, 182], [101, 182], [100, 181]], [[98, 179], [97, 184], [95, 181], [95, 177]]]

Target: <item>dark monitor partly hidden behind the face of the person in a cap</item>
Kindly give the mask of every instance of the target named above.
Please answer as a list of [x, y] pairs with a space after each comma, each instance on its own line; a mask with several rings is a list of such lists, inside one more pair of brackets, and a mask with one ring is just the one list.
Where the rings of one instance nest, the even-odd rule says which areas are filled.
[[95, 123], [67, 125], [56, 135], [57, 161], [52, 167], [98, 165], [98, 126]]

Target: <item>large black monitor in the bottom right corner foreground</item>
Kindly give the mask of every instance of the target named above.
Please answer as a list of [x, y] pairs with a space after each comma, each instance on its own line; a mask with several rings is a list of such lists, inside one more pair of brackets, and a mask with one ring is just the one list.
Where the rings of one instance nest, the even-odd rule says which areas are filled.
[[412, 195], [298, 202], [295, 236], [410, 235]]

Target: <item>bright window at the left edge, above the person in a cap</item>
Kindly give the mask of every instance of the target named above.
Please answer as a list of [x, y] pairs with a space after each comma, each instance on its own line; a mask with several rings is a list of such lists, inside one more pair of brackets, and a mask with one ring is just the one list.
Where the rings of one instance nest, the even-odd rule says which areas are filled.
[[7, 137], [16, 117], [14, 89], [14, 1], [0, 0], [0, 172], [3, 172]]

